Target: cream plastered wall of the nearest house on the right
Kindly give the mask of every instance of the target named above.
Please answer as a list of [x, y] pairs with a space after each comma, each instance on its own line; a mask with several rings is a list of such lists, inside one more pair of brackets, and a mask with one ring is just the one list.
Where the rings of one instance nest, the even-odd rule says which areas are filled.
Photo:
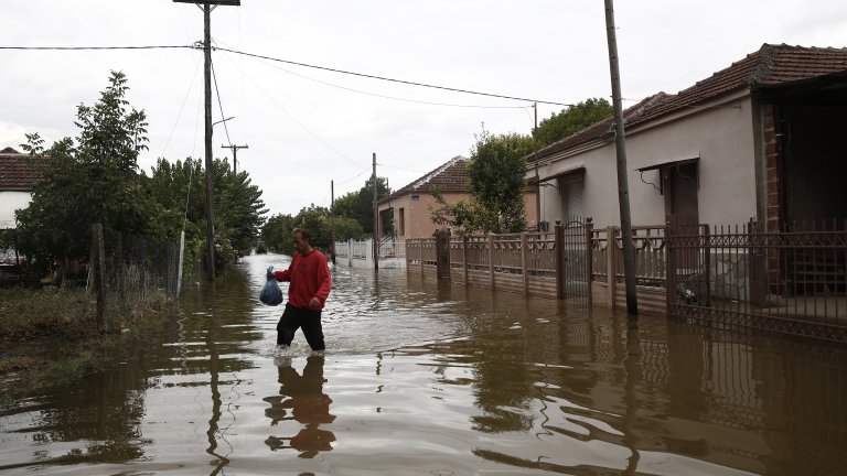
[[[749, 95], [739, 95], [628, 131], [632, 224], [665, 221], [665, 202], [657, 190], [658, 170], [644, 172], [643, 182], [636, 169], [695, 158], [699, 158], [697, 198], [700, 223], [740, 224], [755, 217], [752, 115]], [[538, 174], [550, 176], [579, 166], [586, 169], [583, 215], [592, 217], [594, 226], [619, 225], [614, 141], [610, 139], [593, 149], [547, 158], [539, 164]], [[558, 187], [542, 187], [542, 219], [550, 223], [566, 219], [559, 192]]]

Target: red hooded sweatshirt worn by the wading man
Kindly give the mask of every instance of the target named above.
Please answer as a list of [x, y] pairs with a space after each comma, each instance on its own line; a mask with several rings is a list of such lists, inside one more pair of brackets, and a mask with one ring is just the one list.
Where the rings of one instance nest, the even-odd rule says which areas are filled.
[[309, 301], [318, 298], [321, 304], [315, 310], [322, 310], [332, 289], [330, 268], [326, 256], [318, 250], [305, 255], [294, 251], [291, 264], [285, 271], [274, 271], [277, 281], [289, 281], [288, 303], [297, 307], [309, 307]]

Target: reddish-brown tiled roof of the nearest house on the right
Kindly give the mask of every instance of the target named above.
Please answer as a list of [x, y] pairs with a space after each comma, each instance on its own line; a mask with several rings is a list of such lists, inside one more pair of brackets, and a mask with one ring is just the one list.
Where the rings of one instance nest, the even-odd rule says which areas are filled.
[[[847, 72], [847, 48], [764, 44], [759, 51], [732, 63], [710, 77], [675, 95], [658, 93], [624, 110], [624, 123], [633, 127], [684, 108], [738, 90], [785, 85]], [[607, 118], [537, 152], [551, 155], [580, 143], [613, 137], [613, 118]], [[533, 160], [528, 155], [528, 160]]]

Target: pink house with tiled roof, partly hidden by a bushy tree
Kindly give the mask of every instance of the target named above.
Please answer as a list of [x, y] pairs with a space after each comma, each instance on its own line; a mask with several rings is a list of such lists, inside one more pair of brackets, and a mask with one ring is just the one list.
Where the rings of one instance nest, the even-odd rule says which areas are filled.
[[[395, 235], [399, 241], [408, 238], [430, 237], [438, 228], [438, 225], [432, 223], [431, 217], [432, 209], [438, 206], [431, 193], [432, 188], [437, 188], [447, 203], [454, 204], [471, 198], [469, 184], [468, 159], [461, 155], [454, 156], [438, 169], [382, 199], [377, 204], [379, 220], [383, 221], [385, 214], [393, 215]], [[524, 196], [525, 214], [529, 220], [527, 223], [529, 227], [537, 225], [535, 203], [535, 187], [529, 187]]]

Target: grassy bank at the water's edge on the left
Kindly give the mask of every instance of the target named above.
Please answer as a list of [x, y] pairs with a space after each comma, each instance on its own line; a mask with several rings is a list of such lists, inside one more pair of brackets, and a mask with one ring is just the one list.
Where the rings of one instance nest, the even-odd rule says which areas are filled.
[[0, 407], [108, 368], [133, 329], [158, 321], [167, 300], [148, 292], [107, 302], [112, 332], [101, 333], [84, 289], [0, 289]]

